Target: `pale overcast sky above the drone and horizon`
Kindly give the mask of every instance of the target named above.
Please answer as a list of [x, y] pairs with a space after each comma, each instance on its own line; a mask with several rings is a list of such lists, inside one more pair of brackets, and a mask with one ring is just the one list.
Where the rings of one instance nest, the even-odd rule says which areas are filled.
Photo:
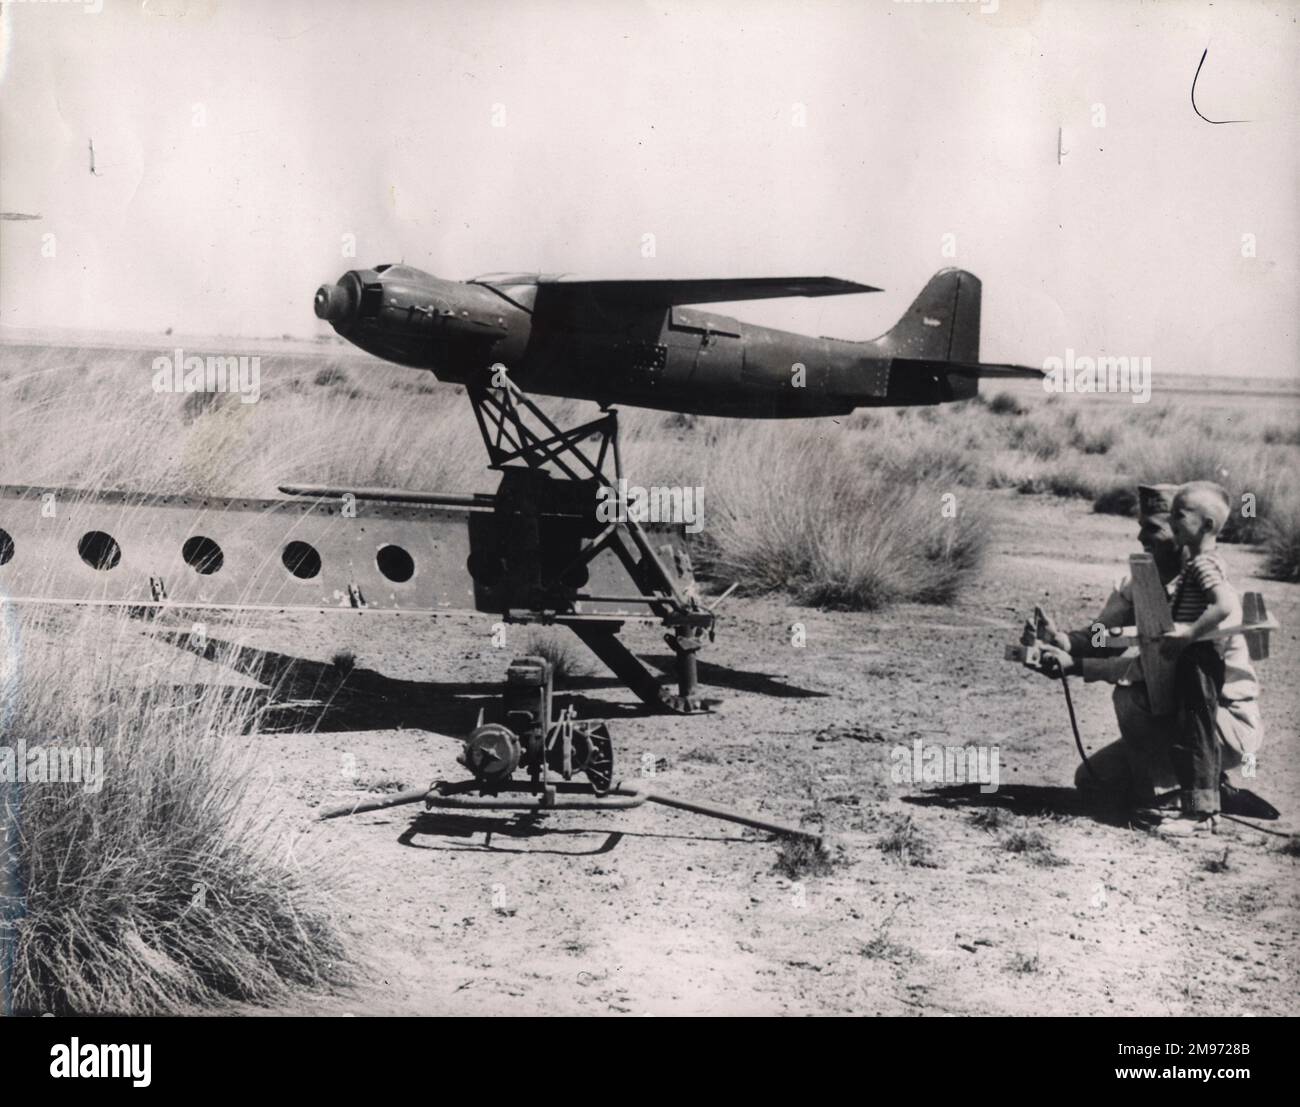
[[[406, 260], [854, 278], [733, 313], [871, 338], [957, 264], [989, 360], [1300, 372], [1296, 4], [94, 6], [4, 4], [6, 326], [311, 335]], [[1193, 114], [1206, 47], [1197, 105], [1249, 122]]]

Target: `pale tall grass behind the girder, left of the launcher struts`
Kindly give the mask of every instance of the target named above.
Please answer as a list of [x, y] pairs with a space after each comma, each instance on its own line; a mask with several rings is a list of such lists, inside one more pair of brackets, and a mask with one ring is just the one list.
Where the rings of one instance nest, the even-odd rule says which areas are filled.
[[[156, 351], [0, 350], [0, 472], [14, 483], [278, 496], [286, 482], [481, 491], [484, 451], [452, 387], [407, 396], [429, 374], [374, 359], [270, 353], [261, 394], [155, 392]], [[87, 379], [73, 372], [82, 359]], [[69, 364], [64, 364], [69, 361]], [[350, 382], [355, 382], [350, 383]], [[69, 429], [73, 429], [72, 431]], [[69, 434], [84, 429], [78, 448]], [[165, 450], [159, 443], [165, 442]]]

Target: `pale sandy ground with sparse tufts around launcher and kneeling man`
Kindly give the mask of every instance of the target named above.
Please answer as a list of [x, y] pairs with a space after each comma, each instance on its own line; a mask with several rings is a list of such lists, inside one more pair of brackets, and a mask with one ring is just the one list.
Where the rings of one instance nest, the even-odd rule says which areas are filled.
[[[5, 364], [27, 404], [25, 416], [4, 413], [8, 426], [66, 401], [17, 381], [17, 355]], [[337, 379], [320, 387], [332, 403], [358, 399], [338, 395]], [[407, 407], [411, 392], [398, 391]], [[428, 399], [422, 386], [413, 399]], [[1227, 425], [1296, 416], [1291, 396], [1227, 403], [1200, 391], [1167, 403]], [[255, 433], [204, 431], [220, 414], [188, 420], [190, 446], [203, 431], [218, 455], [237, 438], [235, 448], [256, 453]], [[44, 468], [39, 450], [8, 453], [5, 482], [84, 479], [78, 448], [96, 483], [129, 486], [130, 465], [114, 470], [103, 438], [65, 438], [46, 455], [60, 464]], [[157, 448], [131, 442], [130, 451], [138, 461]], [[147, 486], [169, 479], [136, 468]], [[1004, 660], [1035, 603], [1062, 624], [1091, 621], [1138, 550], [1132, 518], [1018, 479], [961, 485], [987, 544], [945, 603], [846, 611], [772, 590], [729, 599], [701, 661], [710, 713], [649, 713], [573, 641], [564, 691], [584, 716], [610, 721], [618, 776], [818, 828], [822, 863], [763, 833], [655, 806], [546, 816], [400, 807], [318, 821], [332, 804], [462, 778], [460, 737], [533, 633], [511, 628], [498, 647], [493, 620], [472, 615], [209, 620], [218, 646], [238, 641], [263, 665], [240, 670], [177, 648], [169, 631], [186, 625], [179, 615], [131, 621], [116, 680], [255, 695], [259, 725], [230, 738], [248, 754], [251, 802], [280, 828], [285, 871], [320, 878], [355, 968], [348, 984], [205, 1010], [1297, 1013], [1295, 839], [1227, 824], [1209, 841], [1171, 841], [1087, 808], [1072, 787], [1079, 759], [1060, 683]], [[1300, 586], [1265, 578], [1258, 546], [1223, 550], [1238, 587], [1261, 591], [1282, 625], [1260, 665], [1266, 737], [1244, 783], [1282, 811], [1264, 825], [1286, 835], [1300, 829]], [[23, 650], [57, 652], [86, 617], [32, 621]], [[628, 639], [667, 668], [655, 628]], [[70, 695], [82, 674], [48, 680]], [[1110, 689], [1071, 687], [1095, 751], [1115, 737]], [[996, 747], [997, 789], [893, 780], [893, 751], [916, 739]]]

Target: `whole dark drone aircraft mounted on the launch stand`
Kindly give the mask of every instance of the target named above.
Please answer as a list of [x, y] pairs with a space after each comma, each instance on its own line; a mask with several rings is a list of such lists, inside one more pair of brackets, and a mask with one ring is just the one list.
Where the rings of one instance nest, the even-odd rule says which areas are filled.
[[1041, 377], [979, 360], [980, 282], [931, 278], [871, 342], [790, 334], [692, 304], [876, 292], [832, 277], [580, 281], [494, 274], [443, 281], [407, 265], [354, 269], [316, 314], [355, 346], [439, 381], [502, 366], [538, 395], [685, 414], [797, 418], [966, 400], [982, 377]]

